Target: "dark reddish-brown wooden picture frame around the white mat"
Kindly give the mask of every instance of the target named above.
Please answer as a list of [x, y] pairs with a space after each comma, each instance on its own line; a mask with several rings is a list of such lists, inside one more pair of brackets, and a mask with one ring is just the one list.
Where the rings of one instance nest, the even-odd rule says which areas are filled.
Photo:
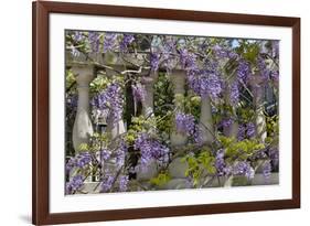
[[[32, 153], [32, 220], [36, 225], [169, 217], [232, 212], [250, 212], [300, 207], [300, 19], [269, 15], [233, 14], [170, 9], [149, 9], [38, 1], [32, 6], [33, 23], [33, 153]], [[148, 207], [131, 209], [50, 213], [49, 201], [49, 15], [73, 13], [141, 19], [164, 19], [231, 24], [272, 25], [292, 29], [292, 198], [277, 201]]]

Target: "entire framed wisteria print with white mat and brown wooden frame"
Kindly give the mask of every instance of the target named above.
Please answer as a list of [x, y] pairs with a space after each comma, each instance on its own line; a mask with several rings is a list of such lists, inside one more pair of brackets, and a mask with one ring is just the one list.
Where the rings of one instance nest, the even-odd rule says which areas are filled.
[[300, 19], [33, 2], [33, 224], [300, 206]]

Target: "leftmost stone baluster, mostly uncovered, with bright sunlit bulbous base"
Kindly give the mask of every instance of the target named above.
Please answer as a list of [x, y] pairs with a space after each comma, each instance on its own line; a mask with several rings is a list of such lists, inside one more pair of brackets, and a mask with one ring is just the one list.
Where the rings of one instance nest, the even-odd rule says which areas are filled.
[[82, 143], [88, 143], [94, 131], [89, 118], [89, 83], [94, 78], [94, 68], [88, 65], [74, 65], [72, 71], [76, 76], [78, 92], [77, 111], [72, 133], [73, 147], [77, 152]]

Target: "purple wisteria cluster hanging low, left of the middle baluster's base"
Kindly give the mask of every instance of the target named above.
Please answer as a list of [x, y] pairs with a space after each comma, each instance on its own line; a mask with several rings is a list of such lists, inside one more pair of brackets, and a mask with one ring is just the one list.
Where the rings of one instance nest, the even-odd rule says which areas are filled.
[[151, 138], [148, 133], [142, 132], [135, 141], [133, 148], [140, 150], [141, 166], [147, 166], [151, 160], [163, 162], [169, 149], [159, 140]]

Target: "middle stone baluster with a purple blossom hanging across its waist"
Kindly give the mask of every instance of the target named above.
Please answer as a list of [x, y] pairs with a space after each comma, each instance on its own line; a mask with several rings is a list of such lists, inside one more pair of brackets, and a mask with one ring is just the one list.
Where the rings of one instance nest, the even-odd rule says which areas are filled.
[[[171, 72], [170, 78], [171, 78], [171, 83], [173, 84], [173, 88], [174, 88], [174, 103], [177, 105], [175, 107], [179, 110], [183, 111], [184, 106], [175, 100], [178, 98], [184, 97], [185, 71], [174, 69]], [[171, 146], [183, 146], [188, 142], [188, 137], [183, 133], [173, 131], [170, 136], [170, 140], [171, 140]]]

